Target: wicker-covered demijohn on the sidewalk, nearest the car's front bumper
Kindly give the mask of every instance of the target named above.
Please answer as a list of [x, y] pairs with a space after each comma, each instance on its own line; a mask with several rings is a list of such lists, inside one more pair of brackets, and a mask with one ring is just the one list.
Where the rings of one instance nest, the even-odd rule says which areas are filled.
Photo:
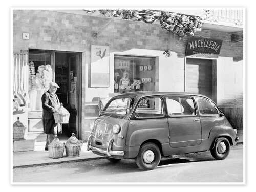
[[72, 136], [65, 143], [66, 154], [68, 157], [79, 157], [81, 152], [82, 142], [80, 142], [75, 134], [72, 133]]

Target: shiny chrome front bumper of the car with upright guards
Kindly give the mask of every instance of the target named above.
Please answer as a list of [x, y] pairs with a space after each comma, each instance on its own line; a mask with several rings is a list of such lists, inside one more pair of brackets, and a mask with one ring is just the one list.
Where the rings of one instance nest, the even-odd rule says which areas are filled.
[[106, 150], [102, 149], [102, 148], [98, 148], [98, 147], [94, 147], [91, 146], [91, 141], [94, 138], [94, 135], [90, 135], [88, 140], [87, 140], [87, 151], [93, 151], [93, 152], [98, 152], [100, 154], [103, 155], [107, 155], [107, 156], [124, 156], [124, 151], [114, 151], [114, 150], [110, 150], [112, 148], [112, 144], [114, 142], [113, 139], [110, 139], [108, 142], [108, 147], [106, 148]]

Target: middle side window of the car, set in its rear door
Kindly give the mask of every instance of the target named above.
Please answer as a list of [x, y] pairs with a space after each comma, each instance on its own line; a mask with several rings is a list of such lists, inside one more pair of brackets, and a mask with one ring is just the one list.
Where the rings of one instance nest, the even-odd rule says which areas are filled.
[[196, 114], [193, 99], [189, 97], [167, 97], [166, 105], [171, 116]]

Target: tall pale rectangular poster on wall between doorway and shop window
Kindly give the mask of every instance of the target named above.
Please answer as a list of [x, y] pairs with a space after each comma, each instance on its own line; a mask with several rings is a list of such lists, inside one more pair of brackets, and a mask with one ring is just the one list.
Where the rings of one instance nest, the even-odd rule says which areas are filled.
[[109, 46], [91, 45], [91, 84], [94, 88], [109, 87]]

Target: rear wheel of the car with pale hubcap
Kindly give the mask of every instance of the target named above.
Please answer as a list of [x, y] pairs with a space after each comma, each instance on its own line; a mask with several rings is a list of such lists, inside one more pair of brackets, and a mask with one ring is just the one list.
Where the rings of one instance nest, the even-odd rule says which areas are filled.
[[221, 160], [225, 159], [228, 156], [229, 151], [229, 141], [224, 137], [220, 137], [216, 140], [215, 146], [210, 150], [210, 153], [215, 159]]

